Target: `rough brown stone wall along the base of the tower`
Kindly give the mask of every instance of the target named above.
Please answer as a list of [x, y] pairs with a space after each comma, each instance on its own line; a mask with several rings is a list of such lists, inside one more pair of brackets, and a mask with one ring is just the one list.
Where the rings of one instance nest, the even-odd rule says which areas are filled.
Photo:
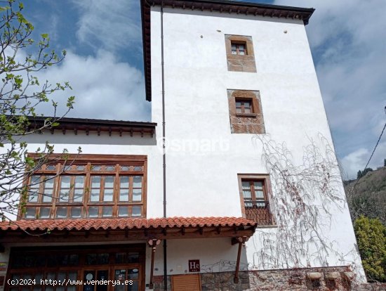
[[[345, 266], [269, 271], [241, 271], [239, 283], [234, 272], [201, 273], [202, 291], [381, 291], [386, 284], [355, 284], [354, 274]], [[164, 277], [154, 276], [154, 291], [164, 290]], [[168, 276], [171, 290], [171, 276]]]

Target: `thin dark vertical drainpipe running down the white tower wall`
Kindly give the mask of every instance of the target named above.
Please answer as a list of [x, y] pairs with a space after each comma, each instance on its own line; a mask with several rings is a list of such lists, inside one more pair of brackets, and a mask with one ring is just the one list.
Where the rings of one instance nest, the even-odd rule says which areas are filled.
[[[164, 73], [164, 2], [161, 3], [161, 79], [162, 79], [162, 155], [164, 167], [164, 218], [166, 218], [166, 148], [165, 148], [165, 73]], [[164, 290], [168, 290], [168, 264], [166, 240], [164, 247]]]

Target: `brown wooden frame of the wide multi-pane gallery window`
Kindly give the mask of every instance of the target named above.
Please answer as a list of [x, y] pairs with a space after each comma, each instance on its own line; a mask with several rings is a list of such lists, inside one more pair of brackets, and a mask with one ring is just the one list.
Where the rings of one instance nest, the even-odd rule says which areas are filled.
[[[38, 157], [35, 154], [29, 154], [29, 157]], [[55, 169], [50, 169], [49, 166], [55, 164]], [[78, 169], [79, 166], [84, 169]], [[100, 166], [100, 169], [98, 169]], [[114, 169], [112, 170], [111, 167]], [[122, 167], [128, 167], [122, 168]], [[34, 219], [79, 219], [79, 218], [127, 218], [127, 217], [146, 217], [147, 203], [147, 157], [145, 155], [66, 155], [66, 159], [62, 155], [53, 154], [48, 158], [48, 162], [41, 169], [34, 172], [32, 176], [53, 176], [53, 199], [51, 202], [43, 202], [44, 182], [39, 184], [39, 194], [36, 202], [29, 202], [29, 195], [25, 200], [25, 208], [34, 207]], [[28, 183], [32, 181], [32, 176], [29, 177]], [[70, 176], [69, 200], [60, 201], [60, 187], [63, 176]], [[74, 182], [76, 176], [84, 176], [84, 192], [82, 202], [73, 202], [74, 199]], [[91, 179], [93, 176], [100, 176], [99, 200], [91, 202]], [[104, 193], [104, 179], [106, 176], [114, 176], [112, 201], [103, 201], [102, 193]], [[120, 194], [120, 179], [122, 176], [128, 176], [128, 201], [119, 200]], [[133, 201], [133, 177], [142, 177], [142, 195], [140, 201]], [[41, 178], [41, 181], [44, 181]], [[126, 189], [127, 190], [127, 189]], [[41, 218], [40, 210], [42, 207], [50, 207], [49, 218]], [[66, 217], [56, 217], [59, 207], [67, 207]], [[71, 217], [72, 207], [81, 207], [81, 217]], [[90, 207], [98, 207], [98, 217], [90, 217]], [[103, 207], [112, 207], [111, 216], [103, 216]], [[127, 216], [119, 216], [119, 207], [127, 207]], [[140, 207], [140, 216], [133, 216], [133, 207]], [[25, 214], [19, 209], [18, 219], [26, 218]]]

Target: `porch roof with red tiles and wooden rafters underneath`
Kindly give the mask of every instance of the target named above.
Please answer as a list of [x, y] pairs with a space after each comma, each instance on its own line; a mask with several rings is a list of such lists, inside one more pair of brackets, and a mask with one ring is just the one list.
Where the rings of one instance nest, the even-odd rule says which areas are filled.
[[159, 219], [33, 219], [0, 223], [1, 243], [90, 242], [251, 237], [257, 223], [242, 217]]

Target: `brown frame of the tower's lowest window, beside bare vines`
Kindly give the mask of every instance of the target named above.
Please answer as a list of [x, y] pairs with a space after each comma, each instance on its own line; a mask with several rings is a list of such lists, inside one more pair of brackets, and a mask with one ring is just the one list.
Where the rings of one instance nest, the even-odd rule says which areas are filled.
[[237, 174], [237, 180], [239, 183], [239, 197], [240, 197], [242, 216], [246, 218], [246, 205], [244, 200], [242, 182], [250, 181], [250, 183], [253, 183], [255, 181], [262, 181], [262, 188], [263, 188], [263, 194], [264, 194], [265, 200], [256, 199], [255, 190], [253, 187], [251, 187], [251, 199], [252, 201], [261, 200], [262, 202], [268, 202], [269, 212], [270, 212], [270, 215], [272, 216], [272, 224], [258, 224], [258, 227], [277, 227], [276, 219], [274, 218], [272, 203], [270, 203], [270, 199], [269, 199], [269, 197], [272, 195], [272, 188], [271, 188], [271, 181], [269, 180], [269, 174]]

